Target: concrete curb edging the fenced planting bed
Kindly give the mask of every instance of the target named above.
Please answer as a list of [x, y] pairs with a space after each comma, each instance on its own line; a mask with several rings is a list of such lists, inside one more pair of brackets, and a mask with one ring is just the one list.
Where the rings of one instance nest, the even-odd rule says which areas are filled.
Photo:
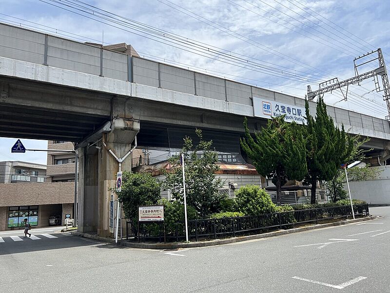
[[[358, 218], [354, 220], [345, 220], [340, 222], [334, 222], [334, 223], [326, 223], [326, 224], [318, 224], [308, 227], [302, 227], [302, 228], [294, 228], [289, 230], [279, 230], [274, 232], [268, 232], [263, 234], [255, 234], [255, 235], [249, 235], [249, 236], [242, 236], [242, 237], [232, 237], [228, 239], [216, 239], [211, 241], [202, 241], [202, 242], [190, 242], [190, 243], [134, 243], [134, 242], [127, 242], [123, 240], [118, 240], [118, 244], [125, 247], [131, 247], [131, 248], [139, 248], [139, 249], [176, 249], [176, 248], [195, 248], [195, 247], [207, 247], [207, 246], [215, 246], [215, 245], [223, 245], [223, 244], [231, 244], [236, 242], [242, 242], [242, 241], [248, 241], [248, 240], [254, 240], [254, 239], [261, 239], [261, 238], [267, 238], [267, 237], [275, 237], [279, 235], [286, 235], [290, 233], [298, 233], [303, 231], [309, 231], [314, 229], [321, 229], [326, 227], [333, 227], [333, 226], [340, 226], [340, 225], [346, 225], [356, 222], [363, 222], [363, 221], [369, 221], [375, 219], [376, 216], [368, 216], [365, 218]], [[115, 244], [115, 239], [112, 238], [105, 238], [101, 237], [95, 234], [89, 234], [89, 233], [81, 233], [76, 231], [70, 231], [72, 235], [80, 236], [84, 238], [89, 238], [93, 240], [98, 241], [104, 241], [109, 242], [112, 244]]]

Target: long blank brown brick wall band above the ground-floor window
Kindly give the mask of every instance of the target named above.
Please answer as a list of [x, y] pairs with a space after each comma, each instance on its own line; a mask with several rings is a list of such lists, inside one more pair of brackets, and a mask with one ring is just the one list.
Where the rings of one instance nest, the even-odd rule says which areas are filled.
[[0, 184], [0, 207], [68, 204], [74, 201], [74, 182]]

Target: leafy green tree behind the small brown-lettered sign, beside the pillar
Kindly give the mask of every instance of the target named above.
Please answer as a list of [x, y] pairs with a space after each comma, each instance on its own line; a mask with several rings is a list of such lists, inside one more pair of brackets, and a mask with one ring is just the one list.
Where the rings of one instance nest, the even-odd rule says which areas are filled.
[[156, 205], [160, 190], [160, 183], [151, 174], [123, 171], [122, 191], [117, 194], [125, 217], [137, 223], [138, 206]]

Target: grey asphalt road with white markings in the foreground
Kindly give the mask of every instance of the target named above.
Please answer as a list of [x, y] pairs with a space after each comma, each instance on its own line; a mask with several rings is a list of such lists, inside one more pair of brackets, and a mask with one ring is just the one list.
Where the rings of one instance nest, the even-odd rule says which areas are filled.
[[[181, 251], [0, 235], [5, 292], [390, 292], [390, 207], [351, 224]], [[8, 239], [9, 238], [9, 239]]]

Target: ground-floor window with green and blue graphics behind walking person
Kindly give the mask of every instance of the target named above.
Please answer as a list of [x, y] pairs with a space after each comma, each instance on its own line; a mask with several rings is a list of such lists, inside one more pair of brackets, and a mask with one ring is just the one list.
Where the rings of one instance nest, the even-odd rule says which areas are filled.
[[38, 206], [10, 207], [8, 211], [8, 228], [24, 227], [24, 219], [31, 226], [38, 226]]

